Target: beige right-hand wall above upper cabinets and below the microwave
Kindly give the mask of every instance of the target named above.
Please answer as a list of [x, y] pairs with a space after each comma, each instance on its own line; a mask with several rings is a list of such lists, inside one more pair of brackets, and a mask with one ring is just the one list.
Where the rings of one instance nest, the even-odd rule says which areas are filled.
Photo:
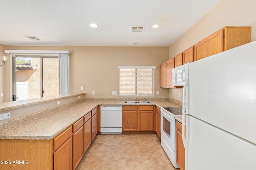
[[[170, 45], [169, 58], [175, 57], [224, 26], [252, 26], [252, 41], [255, 41], [255, 6], [255, 0], [222, 0], [174, 44]], [[179, 98], [178, 93], [182, 94], [182, 89], [170, 89], [169, 98], [182, 101], [182, 96]]]

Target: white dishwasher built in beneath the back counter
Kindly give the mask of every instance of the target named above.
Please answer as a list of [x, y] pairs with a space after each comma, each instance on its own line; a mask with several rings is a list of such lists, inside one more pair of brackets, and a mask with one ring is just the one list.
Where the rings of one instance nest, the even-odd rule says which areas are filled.
[[122, 133], [122, 106], [100, 106], [100, 132]]

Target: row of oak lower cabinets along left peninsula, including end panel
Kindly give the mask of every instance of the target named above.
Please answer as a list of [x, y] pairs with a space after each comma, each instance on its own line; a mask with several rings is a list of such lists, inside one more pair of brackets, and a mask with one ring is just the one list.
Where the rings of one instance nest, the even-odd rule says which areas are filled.
[[0, 139], [0, 160], [18, 160], [0, 169], [75, 170], [96, 134], [97, 107], [51, 140]]

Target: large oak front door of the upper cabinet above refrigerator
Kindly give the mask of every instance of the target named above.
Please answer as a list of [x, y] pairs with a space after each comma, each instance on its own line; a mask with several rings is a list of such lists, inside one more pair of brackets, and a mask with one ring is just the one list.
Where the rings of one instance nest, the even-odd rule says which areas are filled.
[[194, 45], [195, 61], [220, 53], [223, 48], [223, 30], [216, 31]]

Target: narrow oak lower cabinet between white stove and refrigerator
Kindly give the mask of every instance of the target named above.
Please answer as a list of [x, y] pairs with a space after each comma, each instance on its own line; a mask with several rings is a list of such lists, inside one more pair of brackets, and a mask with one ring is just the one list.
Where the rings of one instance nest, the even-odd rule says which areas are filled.
[[180, 170], [185, 169], [185, 148], [182, 141], [182, 124], [176, 121], [176, 163]]

